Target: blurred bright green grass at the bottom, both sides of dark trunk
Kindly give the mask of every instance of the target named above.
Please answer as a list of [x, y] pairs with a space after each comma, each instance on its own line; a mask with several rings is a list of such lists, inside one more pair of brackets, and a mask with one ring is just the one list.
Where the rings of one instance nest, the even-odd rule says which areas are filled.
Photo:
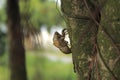
[[[45, 54], [44, 51], [27, 51], [28, 80], [76, 80], [71, 63], [63, 63], [59, 60], [51, 61], [42, 53]], [[10, 73], [7, 61], [8, 54], [0, 58], [0, 63], [2, 63], [0, 64], [0, 80], [9, 80]]]

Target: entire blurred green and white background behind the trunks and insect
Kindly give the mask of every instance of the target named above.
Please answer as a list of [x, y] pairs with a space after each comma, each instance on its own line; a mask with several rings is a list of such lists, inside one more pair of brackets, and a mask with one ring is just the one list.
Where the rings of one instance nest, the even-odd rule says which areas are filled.
[[[53, 33], [65, 27], [59, 5], [55, 0], [20, 0], [28, 80], [76, 80], [71, 55], [52, 44]], [[6, 0], [0, 0], [0, 80], [10, 76], [6, 22]], [[28, 36], [30, 29], [38, 33]]]

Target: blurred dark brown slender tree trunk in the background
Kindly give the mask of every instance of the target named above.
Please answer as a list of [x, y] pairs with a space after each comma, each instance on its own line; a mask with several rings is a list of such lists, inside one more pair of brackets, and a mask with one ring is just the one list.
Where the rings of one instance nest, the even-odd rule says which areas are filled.
[[10, 80], [27, 80], [19, 0], [7, 0]]

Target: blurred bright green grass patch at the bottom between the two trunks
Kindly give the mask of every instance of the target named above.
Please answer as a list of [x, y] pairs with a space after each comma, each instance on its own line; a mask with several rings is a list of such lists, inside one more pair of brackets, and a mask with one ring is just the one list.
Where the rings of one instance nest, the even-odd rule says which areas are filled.
[[29, 80], [76, 80], [72, 64], [51, 61], [39, 53], [29, 53], [27, 61]]

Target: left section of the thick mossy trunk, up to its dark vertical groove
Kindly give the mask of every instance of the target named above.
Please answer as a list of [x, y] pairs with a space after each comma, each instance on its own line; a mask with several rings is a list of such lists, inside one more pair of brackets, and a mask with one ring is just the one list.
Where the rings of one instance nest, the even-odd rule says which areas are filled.
[[67, 20], [74, 70], [78, 78], [98, 80], [100, 75], [94, 71], [98, 69], [96, 43], [100, 9], [89, 0], [61, 0], [61, 9]]

